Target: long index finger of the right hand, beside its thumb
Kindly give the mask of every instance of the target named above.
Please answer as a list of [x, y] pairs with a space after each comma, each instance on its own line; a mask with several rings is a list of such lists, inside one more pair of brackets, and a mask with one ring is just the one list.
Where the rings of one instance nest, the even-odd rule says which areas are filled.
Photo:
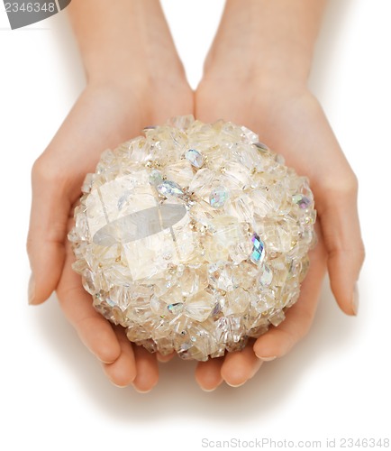
[[310, 269], [302, 284], [300, 298], [286, 311], [286, 319], [278, 327], [270, 327], [268, 332], [259, 336], [254, 352], [263, 361], [270, 361], [288, 353], [305, 336], [311, 327], [322, 281], [326, 271], [326, 252], [319, 235], [319, 242], [310, 253]]

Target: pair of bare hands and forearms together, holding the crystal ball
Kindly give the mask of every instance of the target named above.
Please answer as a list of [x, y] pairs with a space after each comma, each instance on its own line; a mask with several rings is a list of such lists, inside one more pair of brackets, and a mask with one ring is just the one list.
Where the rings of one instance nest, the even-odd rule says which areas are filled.
[[29, 299], [40, 304], [56, 290], [65, 316], [115, 385], [150, 391], [159, 379], [158, 361], [170, 356], [132, 345], [122, 328], [95, 312], [70, 267], [66, 235], [81, 183], [100, 153], [173, 115], [246, 124], [310, 178], [319, 216], [310, 272], [286, 320], [243, 351], [198, 364], [200, 387], [239, 386], [261, 364], [289, 352], [311, 327], [326, 271], [342, 311], [357, 314], [364, 259], [357, 179], [307, 88], [325, 3], [228, 0], [195, 92], [158, 0], [116, 0], [115, 8], [110, 0], [74, 0], [68, 6], [86, 88], [32, 169]]

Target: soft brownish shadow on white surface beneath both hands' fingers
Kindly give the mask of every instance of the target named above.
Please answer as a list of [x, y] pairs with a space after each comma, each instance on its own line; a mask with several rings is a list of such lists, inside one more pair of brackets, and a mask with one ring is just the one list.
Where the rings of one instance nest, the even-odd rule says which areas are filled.
[[170, 419], [208, 419], [225, 425], [231, 421], [245, 422], [254, 412], [259, 419], [267, 417], [273, 410], [281, 409], [319, 359], [335, 352], [337, 347], [341, 349], [341, 345], [349, 345], [349, 336], [357, 327], [338, 310], [325, 281], [309, 335], [286, 357], [263, 364], [259, 373], [241, 388], [223, 384], [214, 392], [201, 391], [194, 377], [196, 363], [175, 357], [168, 364], [160, 364], [158, 385], [150, 393], [141, 394], [132, 387], [114, 387], [105, 379], [100, 364], [81, 345], [76, 332], [62, 316], [56, 299], [42, 306], [35, 318], [45, 343], [66, 362], [69, 373], [74, 373], [79, 382], [83, 393], [80, 401], [92, 402], [102, 414], [127, 423], [162, 419], [168, 413]]

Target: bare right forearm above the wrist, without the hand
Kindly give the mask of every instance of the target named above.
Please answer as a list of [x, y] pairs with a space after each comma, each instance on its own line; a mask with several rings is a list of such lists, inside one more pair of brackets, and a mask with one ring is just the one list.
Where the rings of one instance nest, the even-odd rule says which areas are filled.
[[244, 70], [247, 76], [268, 74], [306, 82], [326, 3], [227, 0], [206, 68], [226, 67], [234, 60], [232, 70], [238, 76]]

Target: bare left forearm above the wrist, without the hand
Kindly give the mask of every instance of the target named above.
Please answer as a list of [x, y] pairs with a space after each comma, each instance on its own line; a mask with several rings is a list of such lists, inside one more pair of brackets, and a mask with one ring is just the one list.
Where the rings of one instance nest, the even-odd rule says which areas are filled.
[[88, 81], [180, 71], [159, 0], [74, 0], [68, 14]]

